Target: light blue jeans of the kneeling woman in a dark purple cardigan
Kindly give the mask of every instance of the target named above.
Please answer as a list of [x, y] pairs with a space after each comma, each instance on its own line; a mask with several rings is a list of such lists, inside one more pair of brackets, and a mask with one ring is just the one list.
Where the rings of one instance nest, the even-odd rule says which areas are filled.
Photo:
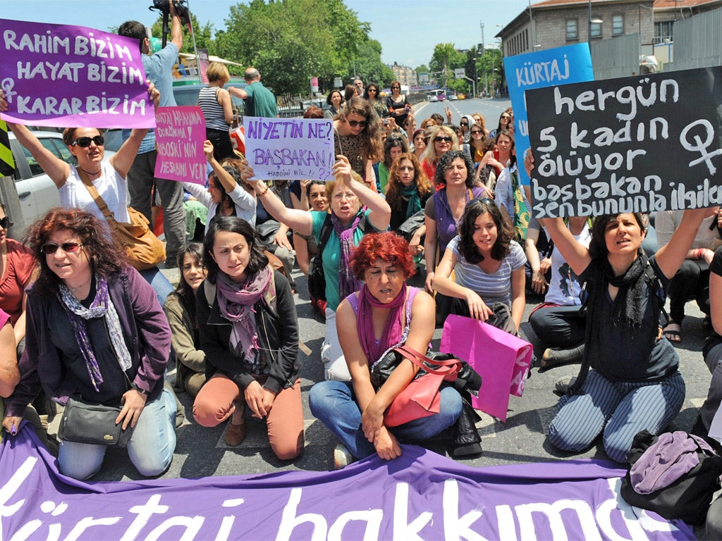
[[[78, 480], [91, 478], [103, 465], [105, 449], [105, 445], [61, 441], [60, 472]], [[145, 405], [127, 449], [131, 462], [144, 477], [154, 477], [168, 469], [175, 450], [175, 398], [168, 389]]]

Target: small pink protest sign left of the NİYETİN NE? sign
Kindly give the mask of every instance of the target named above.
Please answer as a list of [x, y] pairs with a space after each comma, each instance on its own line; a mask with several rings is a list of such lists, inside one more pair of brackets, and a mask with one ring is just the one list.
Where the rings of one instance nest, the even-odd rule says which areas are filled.
[[203, 141], [206, 140], [206, 121], [201, 107], [158, 107], [155, 120], [158, 146], [155, 176], [205, 185]]

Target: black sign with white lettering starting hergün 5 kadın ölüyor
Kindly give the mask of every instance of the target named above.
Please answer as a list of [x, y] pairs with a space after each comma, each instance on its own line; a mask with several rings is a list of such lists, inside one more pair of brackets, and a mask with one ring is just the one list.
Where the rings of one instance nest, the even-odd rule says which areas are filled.
[[526, 91], [534, 216], [722, 203], [722, 67]]

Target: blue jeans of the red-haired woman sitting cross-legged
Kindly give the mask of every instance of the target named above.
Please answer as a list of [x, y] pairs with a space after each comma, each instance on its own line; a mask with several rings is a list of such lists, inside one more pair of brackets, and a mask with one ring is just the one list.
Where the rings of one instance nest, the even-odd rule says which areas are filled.
[[[315, 384], [308, 396], [311, 413], [357, 458], [376, 452], [361, 429], [361, 410], [352, 382], [325, 381]], [[461, 415], [461, 395], [453, 387], [441, 387], [441, 411], [430, 417], [388, 428], [399, 443], [418, 444], [456, 423]]]

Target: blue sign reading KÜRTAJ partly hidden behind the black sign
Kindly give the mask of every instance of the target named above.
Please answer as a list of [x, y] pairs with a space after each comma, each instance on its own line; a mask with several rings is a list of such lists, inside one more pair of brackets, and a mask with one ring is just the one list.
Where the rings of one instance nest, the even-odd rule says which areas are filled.
[[[594, 79], [586, 43], [507, 56], [504, 58], [504, 69], [514, 110], [514, 143], [518, 156], [529, 148], [524, 91]], [[519, 180], [523, 185], [529, 185], [529, 177], [523, 167], [519, 168]]]

